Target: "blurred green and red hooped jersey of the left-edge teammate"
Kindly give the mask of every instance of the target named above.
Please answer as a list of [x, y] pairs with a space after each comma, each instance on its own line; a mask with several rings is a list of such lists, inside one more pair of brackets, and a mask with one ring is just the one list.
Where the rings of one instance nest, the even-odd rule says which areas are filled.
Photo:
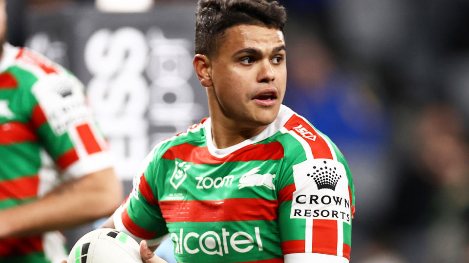
[[[62, 181], [112, 167], [83, 84], [33, 51], [3, 48], [0, 209], [35, 201]], [[63, 260], [65, 252], [59, 232], [0, 240], [0, 263]]]

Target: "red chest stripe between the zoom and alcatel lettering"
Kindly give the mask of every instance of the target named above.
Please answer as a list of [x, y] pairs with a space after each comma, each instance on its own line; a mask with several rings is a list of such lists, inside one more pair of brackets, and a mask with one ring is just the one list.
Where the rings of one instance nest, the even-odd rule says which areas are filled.
[[219, 201], [159, 201], [166, 222], [276, 220], [277, 200], [235, 198]]

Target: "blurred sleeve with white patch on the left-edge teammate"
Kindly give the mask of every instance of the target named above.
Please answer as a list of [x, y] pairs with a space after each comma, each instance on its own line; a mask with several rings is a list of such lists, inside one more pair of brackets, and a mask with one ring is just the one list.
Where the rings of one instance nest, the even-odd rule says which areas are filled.
[[113, 166], [108, 143], [87, 104], [83, 84], [62, 68], [22, 89], [11, 107], [21, 112], [38, 141], [71, 178]]

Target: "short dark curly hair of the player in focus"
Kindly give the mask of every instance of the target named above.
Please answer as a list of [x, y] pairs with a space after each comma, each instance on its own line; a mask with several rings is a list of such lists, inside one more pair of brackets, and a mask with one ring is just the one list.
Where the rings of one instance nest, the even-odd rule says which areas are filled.
[[277, 1], [199, 0], [195, 24], [195, 54], [216, 56], [227, 29], [259, 25], [283, 32], [287, 14]]

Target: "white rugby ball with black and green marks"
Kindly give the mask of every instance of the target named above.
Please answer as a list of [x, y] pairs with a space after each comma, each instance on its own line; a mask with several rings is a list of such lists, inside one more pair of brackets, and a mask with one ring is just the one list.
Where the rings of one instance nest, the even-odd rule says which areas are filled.
[[139, 247], [124, 232], [100, 228], [86, 233], [75, 243], [67, 263], [143, 263]]

